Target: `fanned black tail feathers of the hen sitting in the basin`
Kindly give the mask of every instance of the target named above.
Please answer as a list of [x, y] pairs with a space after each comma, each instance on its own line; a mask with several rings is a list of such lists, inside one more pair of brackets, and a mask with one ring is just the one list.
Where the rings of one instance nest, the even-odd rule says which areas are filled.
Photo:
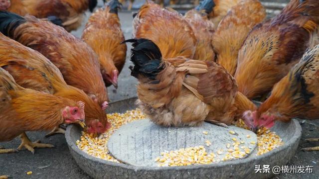
[[131, 75], [138, 78], [139, 74], [141, 74], [151, 80], [155, 80], [163, 69], [160, 48], [148, 39], [129, 39], [123, 43], [126, 42], [133, 43], [131, 61], [134, 67], [130, 67]]

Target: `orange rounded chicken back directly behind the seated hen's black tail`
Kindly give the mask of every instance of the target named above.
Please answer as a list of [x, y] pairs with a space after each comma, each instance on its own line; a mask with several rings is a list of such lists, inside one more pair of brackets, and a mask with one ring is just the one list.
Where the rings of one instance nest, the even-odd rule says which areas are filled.
[[152, 40], [159, 46], [163, 58], [193, 58], [196, 48], [194, 32], [177, 11], [161, 8], [147, 0], [133, 16], [133, 37]]

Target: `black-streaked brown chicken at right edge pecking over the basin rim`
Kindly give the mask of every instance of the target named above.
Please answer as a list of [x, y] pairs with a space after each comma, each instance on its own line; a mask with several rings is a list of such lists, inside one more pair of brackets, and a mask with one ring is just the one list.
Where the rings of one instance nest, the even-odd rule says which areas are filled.
[[[257, 111], [250, 111], [255, 127], [271, 128], [275, 121], [288, 122], [291, 118], [319, 118], [319, 45], [308, 50], [288, 75], [281, 79]], [[309, 139], [319, 141], [319, 139]], [[305, 148], [319, 151], [319, 146]]]

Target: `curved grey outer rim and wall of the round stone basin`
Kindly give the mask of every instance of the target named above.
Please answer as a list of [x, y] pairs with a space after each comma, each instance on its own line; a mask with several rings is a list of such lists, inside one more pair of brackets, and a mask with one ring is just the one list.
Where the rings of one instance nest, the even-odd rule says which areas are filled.
[[[131, 98], [114, 102], [110, 105], [107, 112], [123, 113], [126, 110], [135, 109], [137, 107], [134, 104], [135, 100], [136, 98]], [[125, 125], [122, 127], [125, 127]], [[229, 131], [230, 129], [226, 130]], [[237, 129], [232, 130], [237, 132]], [[130, 164], [114, 163], [95, 158], [84, 153], [76, 146], [76, 140], [79, 140], [81, 136], [81, 128], [77, 125], [69, 125], [66, 130], [65, 137], [70, 149], [70, 153], [76, 163], [83, 171], [95, 179], [269, 179], [273, 177], [274, 174], [272, 172], [255, 173], [255, 165], [261, 165], [261, 167], [263, 165], [270, 165], [270, 168], [274, 166], [286, 165], [295, 155], [299, 140], [301, 138], [301, 126], [296, 119], [293, 119], [288, 123], [276, 122], [275, 126], [271, 130], [275, 131], [277, 135], [283, 139], [284, 145], [264, 155], [256, 156], [254, 153], [252, 153], [250, 156], [244, 159], [208, 165], [182, 167], [157, 167], [154, 165], [149, 167], [143, 165], [135, 166]], [[200, 132], [202, 131], [199, 131], [199, 133]], [[209, 131], [207, 132], [209, 134]], [[199, 133], [198, 135], [202, 136]], [[116, 135], [117, 132], [114, 134]], [[113, 136], [111, 138], [113, 138]], [[214, 140], [215, 139], [211, 139], [211, 146], [214, 146]], [[200, 141], [200, 144], [203, 145], [202, 138], [199, 138], [197, 141]], [[197, 143], [190, 145], [197, 145]], [[176, 144], [172, 150], [176, 150], [175, 147], [178, 149], [178, 147], [184, 146], [179, 146], [179, 144]], [[162, 149], [167, 150], [164, 148], [159, 148], [158, 151]], [[154, 156], [152, 156], [152, 158]]]

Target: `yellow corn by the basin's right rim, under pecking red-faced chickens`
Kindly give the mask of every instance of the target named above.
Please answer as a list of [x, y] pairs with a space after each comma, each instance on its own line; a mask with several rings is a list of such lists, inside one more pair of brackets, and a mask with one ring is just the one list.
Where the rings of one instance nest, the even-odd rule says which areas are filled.
[[[245, 128], [249, 130], [249, 128], [244, 123], [244, 121], [241, 119], [234, 122], [234, 125], [236, 125], [237, 127], [241, 127], [241, 128]], [[272, 132], [269, 129], [266, 129], [264, 127], [258, 129], [257, 141], [258, 141], [257, 155], [263, 155], [284, 144], [283, 140], [276, 134], [276, 132]]]

